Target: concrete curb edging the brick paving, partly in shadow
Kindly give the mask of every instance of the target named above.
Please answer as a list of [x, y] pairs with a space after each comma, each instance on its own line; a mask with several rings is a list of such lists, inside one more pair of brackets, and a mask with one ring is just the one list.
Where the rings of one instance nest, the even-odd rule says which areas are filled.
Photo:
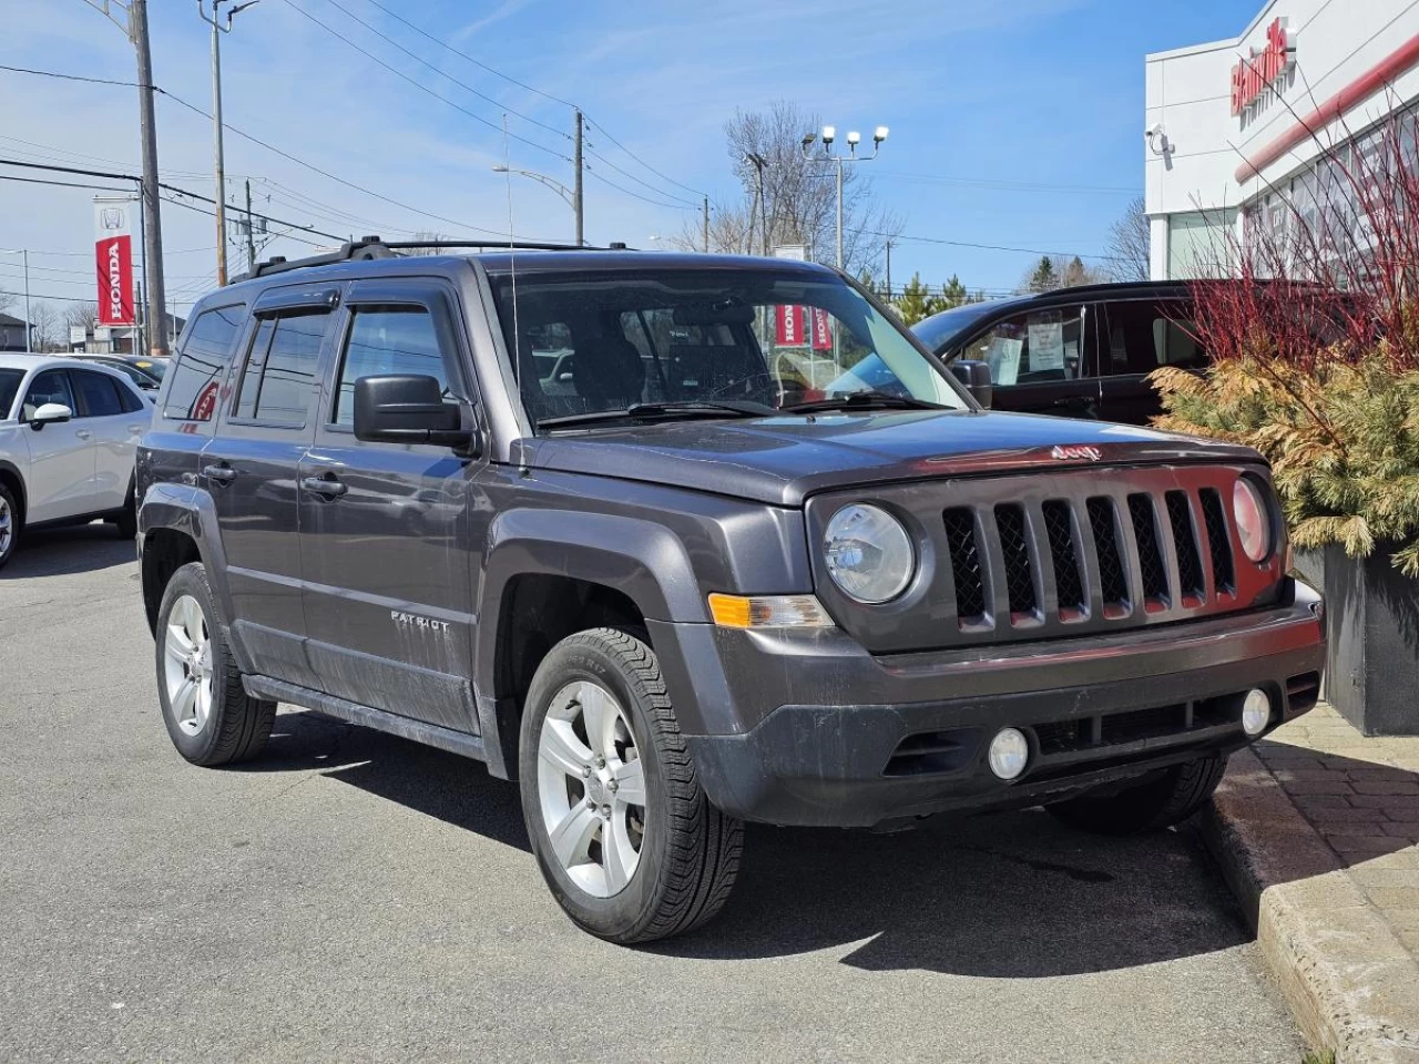
[[1337, 1064], [1419, 1064], [1419, 965], [1254, 753], [1232, 755], [1200, 816], [1311, 1047]]

